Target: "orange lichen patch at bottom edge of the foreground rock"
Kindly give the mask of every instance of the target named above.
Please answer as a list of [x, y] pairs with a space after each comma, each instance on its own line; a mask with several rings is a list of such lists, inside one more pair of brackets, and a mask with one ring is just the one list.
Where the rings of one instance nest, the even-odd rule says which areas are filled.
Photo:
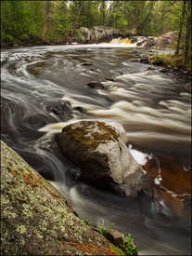
[[102, 253], [105, 253], [107, 255], [117, 255], [117, 253], [108, 247], [97, 247], [93, 244], [78, 244], [78, 243], [70, 243], [61, 241], [64, 244], [68, 244], [70, 246], [74, 246], [76, 249], [80, 249], [83, 252], [90, 253], [91, 255], [101, 255]]

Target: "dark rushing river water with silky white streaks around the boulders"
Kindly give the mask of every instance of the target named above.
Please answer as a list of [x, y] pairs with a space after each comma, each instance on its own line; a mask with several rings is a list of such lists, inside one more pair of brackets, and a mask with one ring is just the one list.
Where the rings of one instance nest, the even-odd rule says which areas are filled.
[[[104, 219], [130, 233], [139, 255], [190, 255], [190, 77], [130, 61], [146, 52], [121, 45], [3, 50], [2, 140], [52, 180], [82, 219], [96, 225]], [[88, 87], [92, 81], [104, 88]], [[67, 113], [54, 114], [62, 102]], [[71, 163], [54, 135], [77, 120], [123, 125], [132, 154], [151, 177], [154, 199], [66, 184]]]

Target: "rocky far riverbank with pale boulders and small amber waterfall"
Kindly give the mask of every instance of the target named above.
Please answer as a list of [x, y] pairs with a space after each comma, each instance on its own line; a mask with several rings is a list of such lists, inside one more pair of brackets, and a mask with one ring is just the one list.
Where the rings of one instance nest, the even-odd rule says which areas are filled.
[[135, 44], [137, 47], [166, 47], [176, 41], [177, 34], [177, 32], [169, 32], [158, 36], [147, 36], [135, 34], [135, 32], [122, 33], [119, 29], [108, 26], [80, 27], [72, 35], [64, 35], [55, 39], [48, 37], [26, 38], [20, 43], [15, 42], [7, 47], [98, 44], [110, 43], [113, 39], [119, 39], [119, 43]]

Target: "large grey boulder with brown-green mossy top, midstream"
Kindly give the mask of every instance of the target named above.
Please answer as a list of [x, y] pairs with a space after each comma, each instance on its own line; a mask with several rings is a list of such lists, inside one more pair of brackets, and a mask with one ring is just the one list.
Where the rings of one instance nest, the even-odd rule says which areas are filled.
[[82, 182], [135, 196], [145, 172], [129, 152], [121, 125], [113, 126], [116, 128], [104, 122], [77, 122], [63, 128], [56, 140], [62, 153], [81, 169]]

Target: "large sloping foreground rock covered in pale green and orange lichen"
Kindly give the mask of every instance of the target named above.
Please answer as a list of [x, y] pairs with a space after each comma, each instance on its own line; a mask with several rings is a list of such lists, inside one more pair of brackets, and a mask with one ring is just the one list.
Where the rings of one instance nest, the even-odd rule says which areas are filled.
[[[117, 255], [65, 197], [1, 141], [1, 255]], [[113, 248], [113, 249], [111, 249]]]

